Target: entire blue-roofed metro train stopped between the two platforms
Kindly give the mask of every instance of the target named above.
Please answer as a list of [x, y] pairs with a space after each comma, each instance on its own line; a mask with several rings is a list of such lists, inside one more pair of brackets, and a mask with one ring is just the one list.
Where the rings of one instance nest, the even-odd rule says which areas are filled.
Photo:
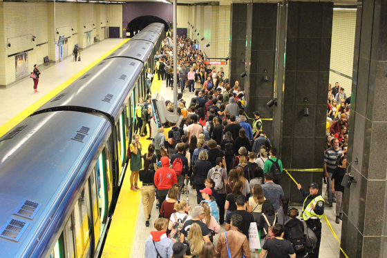
[[0, 257], [100, 255], [163, 39], [147, 26], [0, 138]]

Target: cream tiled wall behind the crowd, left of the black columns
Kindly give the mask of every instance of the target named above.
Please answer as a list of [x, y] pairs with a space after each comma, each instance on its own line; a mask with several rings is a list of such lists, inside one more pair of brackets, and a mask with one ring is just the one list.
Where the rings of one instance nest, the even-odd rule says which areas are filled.
[[[225, 58], [229, 56], [230, 12], [230, 6], [189, 7], [189, 23], [194, 26], [193, 29], [189, 27], [189, 37], [197, 39], [200, 50], [205, 52], [210, 58]], [[201, 41], [203, 37], [205, 39]], [[210, 43], [209, 48], [206, 47], [208, 43]], [[229, 77], [228, 65], [215, 67], [217, 71], [220, 70], [220, 67], [223, 67], [225, 77]]]

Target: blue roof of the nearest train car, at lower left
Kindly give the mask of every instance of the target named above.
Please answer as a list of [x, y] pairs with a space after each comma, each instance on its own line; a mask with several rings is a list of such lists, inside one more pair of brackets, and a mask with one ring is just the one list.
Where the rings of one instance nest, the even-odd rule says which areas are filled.
[[[104, 117], [47, 112], [28, 117], [0, 138], [1, 257], [43, 255], [57, 234], [53, 225], [62, 223], [86, 178], [81, 168], [96, 161], [89, 155], [99, 153], [110, 133]], [[8, 223], [16, 223], [19, 234], [4, 233]]]

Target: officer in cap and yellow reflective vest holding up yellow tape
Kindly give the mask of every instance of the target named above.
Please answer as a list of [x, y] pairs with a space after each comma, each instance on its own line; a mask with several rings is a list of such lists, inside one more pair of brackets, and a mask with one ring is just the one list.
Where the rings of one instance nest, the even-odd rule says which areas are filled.
[[315, 182], [311, 183], [309, 186], [310, 194], [303, 190], [301, 184], [297, 185], [297, 188], [301, 191], [301, 195], [305, 198], [303, 201], [303, 212], [302, 218], [306, 222], [308, 228], [313, 230], [314, 234], [317, 237], [316, 247], [313, 252], [309, 254], [310, 258], [318, 258], [320, 252], [320, 242], [321, 242], [321, 218], [324, 214], [324, 204], [325, 201], [321, 195], [319, 195], [319, 185]]

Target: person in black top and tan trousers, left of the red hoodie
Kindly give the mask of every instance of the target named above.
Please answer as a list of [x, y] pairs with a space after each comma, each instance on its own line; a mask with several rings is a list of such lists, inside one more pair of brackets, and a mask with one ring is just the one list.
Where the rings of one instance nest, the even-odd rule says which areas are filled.
[[150, 165], [151, 159], [149, 159], [149, 157], [146, 157], [144, 159], [144, 169], [140, 170], [139, 172], [140, 181], [142, 181], [141, 202], [142, 207], [144, 208], [144, 216], [146, 220], [145, 226], [147, 227], [149, 227], [149, 219], [151, 219], [153, 202], [155, 201], [155, 170], [150, 169]]

